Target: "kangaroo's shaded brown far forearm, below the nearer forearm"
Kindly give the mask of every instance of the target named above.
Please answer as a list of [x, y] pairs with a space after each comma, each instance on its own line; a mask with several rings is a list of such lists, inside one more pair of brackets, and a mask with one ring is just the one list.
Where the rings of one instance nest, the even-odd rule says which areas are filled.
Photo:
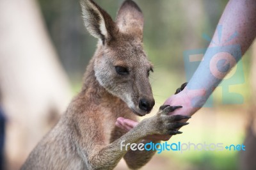
[[[154, 141], [153, 143], [160, 143], [161, 141]], [[150, 143], [148, 140], [143, 140], [141, 143], [146, 144]], [[153, 157], [153, 155], [156, 153], [156, 150], [129, 150], [127, 153], [124, 155], [124, 160], [127, 164], [127, 166], [130, 169], [140, 169], [140, 167], [145, 166], [147, 162]]]

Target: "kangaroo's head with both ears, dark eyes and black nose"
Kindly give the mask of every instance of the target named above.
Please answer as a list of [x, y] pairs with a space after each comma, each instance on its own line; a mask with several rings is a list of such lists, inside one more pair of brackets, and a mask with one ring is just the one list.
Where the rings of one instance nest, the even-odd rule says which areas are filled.
[[84, 24], [99, 38], [93, 60], [95, 77], [109, 93], [121, 98], [139, 116], [155, 104], [148, 75], [153, 71], [143, 50], [143, 14], [131, 0], [118, 11], [116, 22], [90, 0], [81, 1]]

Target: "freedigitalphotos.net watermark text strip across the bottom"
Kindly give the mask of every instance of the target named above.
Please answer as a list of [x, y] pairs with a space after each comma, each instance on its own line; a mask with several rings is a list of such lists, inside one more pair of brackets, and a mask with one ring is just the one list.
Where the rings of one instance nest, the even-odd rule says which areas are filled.
[[132, 151], [136, 150], [146, 150], [146, 151], [157, 151], [157, 153], [162, 153], [163, 151], [179, 151], [180, 153], [184, 153], [185, 151], [245, 151], [244, 144], [230, 144], [225, 145], [223, 143], [125, 143], [122, 141], [120, 143], [120, 150], [128, 151], [131, 149]]

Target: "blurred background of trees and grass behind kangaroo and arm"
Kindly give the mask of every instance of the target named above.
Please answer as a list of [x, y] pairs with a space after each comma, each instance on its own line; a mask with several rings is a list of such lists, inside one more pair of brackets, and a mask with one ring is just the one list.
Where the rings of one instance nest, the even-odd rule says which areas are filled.
[[[95, 0], [115, 19], [123, 0]], [[145, 18], [143, 43], [154, 64], [154, 114], [186, 82], [183, 52], [209, 45], [227, 0], [135, 0]], [[19, 169], [81, 88], [97, 40], [86, 32], [79, 1], [0, 1], [0, 169]], [[164, 151], [142, 169], [256, 169], [256, 44], [246, 52], [243, 79], [230, 91], [243, 104], [223, 105], [221, 87], [169, 143], [244, 144], [246, 151]], [[234, 100], [234, 98], [229, 98]], [[121, 161], [116, 169], [127, 169]]]

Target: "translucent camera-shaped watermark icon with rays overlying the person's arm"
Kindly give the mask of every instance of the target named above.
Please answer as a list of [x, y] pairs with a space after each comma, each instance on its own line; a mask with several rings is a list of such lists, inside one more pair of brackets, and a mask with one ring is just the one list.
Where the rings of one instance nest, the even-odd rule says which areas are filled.
[[[214, 47], [184, 51], [183, 58], [187, 81], [191, 79], [201, 62], [207, 66], [207, 68], [204, 67], [204, 72], [197, 73], [198, 77], [196, 77], [196, 81], [198, 83], [188, 88], [191, 90], [207, 89], [208, 82], [203, 82], [203, 80], [213, 80], [213, 82], [216, 82], [216, 87], [221, 86], [222, 104], [243, 104], [243, 95], [230, 92], [229, 89], [232, 85], [244, 83], [243, 63], [239, 62], [239, 59], [242, 57], [241, 46], [239, 44], [225, 45], [236, 38], [238, 33], [234, 33], [223, 42], [221, 40], [222, 26], [219, 25], [217, 30], [218, 42], [213, 42], [209, 36], [203, 35], [206, 40], [214, 44]], [[232, 66], [234, 66], [233, 69], [231, 69]], [[228, 75], [223, 79], [227, 73]], [[223, 79], [223, 81], [218, 85], [221, 79]], [[210, 94], [213, 90], [214, 89], [210, 89], [210, 91], [206, 93]], [[212, 107], [212, 105], [213, 98], [210, 96], [204, 107]]]

